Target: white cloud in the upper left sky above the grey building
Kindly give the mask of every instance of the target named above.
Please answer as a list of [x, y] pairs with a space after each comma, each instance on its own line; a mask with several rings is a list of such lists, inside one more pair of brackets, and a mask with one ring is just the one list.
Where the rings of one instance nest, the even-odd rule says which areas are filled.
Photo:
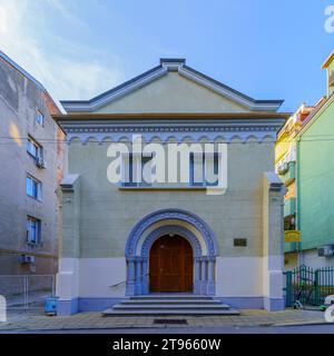
[[[43, 19], [42, 11], [56, 11], [55, 16], [72, 26], [86, 26], [66, 8], [65, 2], [48, 0], [47, 4], [36, 11], [27, 0], [0, 0], [0, 9], [7, 14], [7, 31], [0, 32], [0, 49], [42, 82], [56, 100], [88, 99], [120, 82], [124, 76], [115, 62], [107, 66], [100, 60], [102, 56], [95, 61], [87, 60], [91, 57], [87, 46], [73, 43], [76, 53], [82, 51], [82, 60], [78, 61], [72, 58], [71, 43], [57, 33], [46, 30], [42, 36], [37, 36], [41, 30], [37, 23]], [[53, 42], [57, 44], [51, 51], [46, 51], [45, 44]], [[92, 49], [91, 53], [96, 55], [96, 51]]]

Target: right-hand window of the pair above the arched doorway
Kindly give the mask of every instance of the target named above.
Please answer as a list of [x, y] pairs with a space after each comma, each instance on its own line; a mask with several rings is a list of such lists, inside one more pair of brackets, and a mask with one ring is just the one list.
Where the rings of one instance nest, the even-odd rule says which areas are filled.
[[190, 154], [190, 186], [215, 187], [218, 185], [219, 155], [214, 154]]

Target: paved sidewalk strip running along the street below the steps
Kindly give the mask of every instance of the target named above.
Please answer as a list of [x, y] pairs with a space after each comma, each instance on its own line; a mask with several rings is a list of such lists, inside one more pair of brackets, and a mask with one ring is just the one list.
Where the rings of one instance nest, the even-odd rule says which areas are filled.
[[187, 325], [177, 327], [222, 327], [222, 326], [287, 326], [326, 324], [324, 314], [317, 310], [293, 310], [268, 313], [259, 309], [243, 309], [239, 316], [169, 316], [169, 317], [102, 317], [100, 313], [80, 313], [66, 317], [48, 317], [39, 310], [10, 312], [7, 323], [0, 323], [4, 330], [61, 330], [61, 329], [108, 329], [108, 328], [165, 328], [173, 324], [155, 324], [155, 319], [186, 319]]

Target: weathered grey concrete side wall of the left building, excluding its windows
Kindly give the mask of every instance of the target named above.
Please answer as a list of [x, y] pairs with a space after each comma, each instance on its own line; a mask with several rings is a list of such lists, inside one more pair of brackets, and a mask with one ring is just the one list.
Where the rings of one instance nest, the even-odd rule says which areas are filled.
[[[59, 208], [56, 189], [62, 178], [66, 147], [50, 116], [45, 90], [0, 59], [0, 274], [55, 274], [58, 257]], [[38, 109], [45, 126], [36, 121]], [[27, 152], [31, 135], [43, 146], [46, 169]], [[42, 182], [42, 201], [27, 196], [27, 172]], [[41, 244], [27, 244], [27, 215], [41, 219]], [[20, 265], [21, 254], [36, 256], [36, 268]]]

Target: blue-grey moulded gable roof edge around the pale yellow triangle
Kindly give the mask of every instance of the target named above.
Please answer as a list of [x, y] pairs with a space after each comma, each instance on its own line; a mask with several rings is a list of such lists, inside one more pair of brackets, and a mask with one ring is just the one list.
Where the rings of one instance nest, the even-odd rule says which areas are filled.
[[166, 76], [168, 71], [176, 71], [179, 76], [187, 78], [224, 98], [228, 98], [249, 111], [277, 111], [283, 100], [255, 100], [204, 73], [186, 66], [185, 59], [161, 58], [160, 65], [135, 77], [90, 100], [61, 100], [61, 105], [67, 112], [91, 112], [112, 102], [148, 83]]

